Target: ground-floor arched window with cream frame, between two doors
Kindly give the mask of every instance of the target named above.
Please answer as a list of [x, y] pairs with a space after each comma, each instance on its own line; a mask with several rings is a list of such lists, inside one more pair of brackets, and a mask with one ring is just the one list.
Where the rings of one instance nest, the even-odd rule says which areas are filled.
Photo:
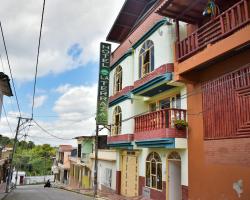
[[156, 152], [150, 153], [146, 160], [146, 186], [162, 189], [162, 162]]

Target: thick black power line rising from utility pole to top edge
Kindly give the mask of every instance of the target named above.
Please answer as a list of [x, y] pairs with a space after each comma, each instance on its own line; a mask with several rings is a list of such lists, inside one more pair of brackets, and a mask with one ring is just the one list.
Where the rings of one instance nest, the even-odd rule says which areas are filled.
[[43, 1], [42, 18], [41, 18], [40, 31], [39, 31], [39, 40], [38, 40], [38, 47], [37, 47], [36, 71], [35, 71], [35, 80], [34, 80], [34, 88], [33, 88], [33, 101], [32, 101], [31, 118], [33, 118], [33, 114], [34, 114], [34, 104], [35, 104], [35, 95], [36, 95], [36, 82], [37, 82], [37, 70], [38, 70], [38, 63], [39, 63], [41, 38], [42, 38], [44, 9], [45, 9], [45, 0]]

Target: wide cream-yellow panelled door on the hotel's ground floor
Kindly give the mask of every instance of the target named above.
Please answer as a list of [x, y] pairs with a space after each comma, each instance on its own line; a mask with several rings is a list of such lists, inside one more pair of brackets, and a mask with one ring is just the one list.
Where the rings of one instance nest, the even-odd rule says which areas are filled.
[[121, 194], [127, 197], [138, 196], [138, 159], [135, 152], [122, 155]]

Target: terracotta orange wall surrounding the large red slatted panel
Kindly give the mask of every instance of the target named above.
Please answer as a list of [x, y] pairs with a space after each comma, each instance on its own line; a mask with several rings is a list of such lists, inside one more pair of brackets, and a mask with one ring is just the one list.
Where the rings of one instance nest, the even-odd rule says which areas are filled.
[[[211, 80], [250, 63], [250, 50], [213, 64], [200, 72], [189, 72], [187, 99], [189, 123], [189, 199], [235, 200], [233, 183], [243, 180], [241, 200], [250, 199], [250, 138], [203, 139], [202, 94], [200, 82]], [[223, 103], [223, 102], [221, 102]]]

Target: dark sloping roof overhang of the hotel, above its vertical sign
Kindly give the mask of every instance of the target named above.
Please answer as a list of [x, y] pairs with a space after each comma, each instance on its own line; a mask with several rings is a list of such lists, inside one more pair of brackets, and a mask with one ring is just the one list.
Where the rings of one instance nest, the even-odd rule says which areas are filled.
[[126, 0], [106, 40], [121, 43], [144, 14], [152, 8], [156, 1], [157, 0]]

